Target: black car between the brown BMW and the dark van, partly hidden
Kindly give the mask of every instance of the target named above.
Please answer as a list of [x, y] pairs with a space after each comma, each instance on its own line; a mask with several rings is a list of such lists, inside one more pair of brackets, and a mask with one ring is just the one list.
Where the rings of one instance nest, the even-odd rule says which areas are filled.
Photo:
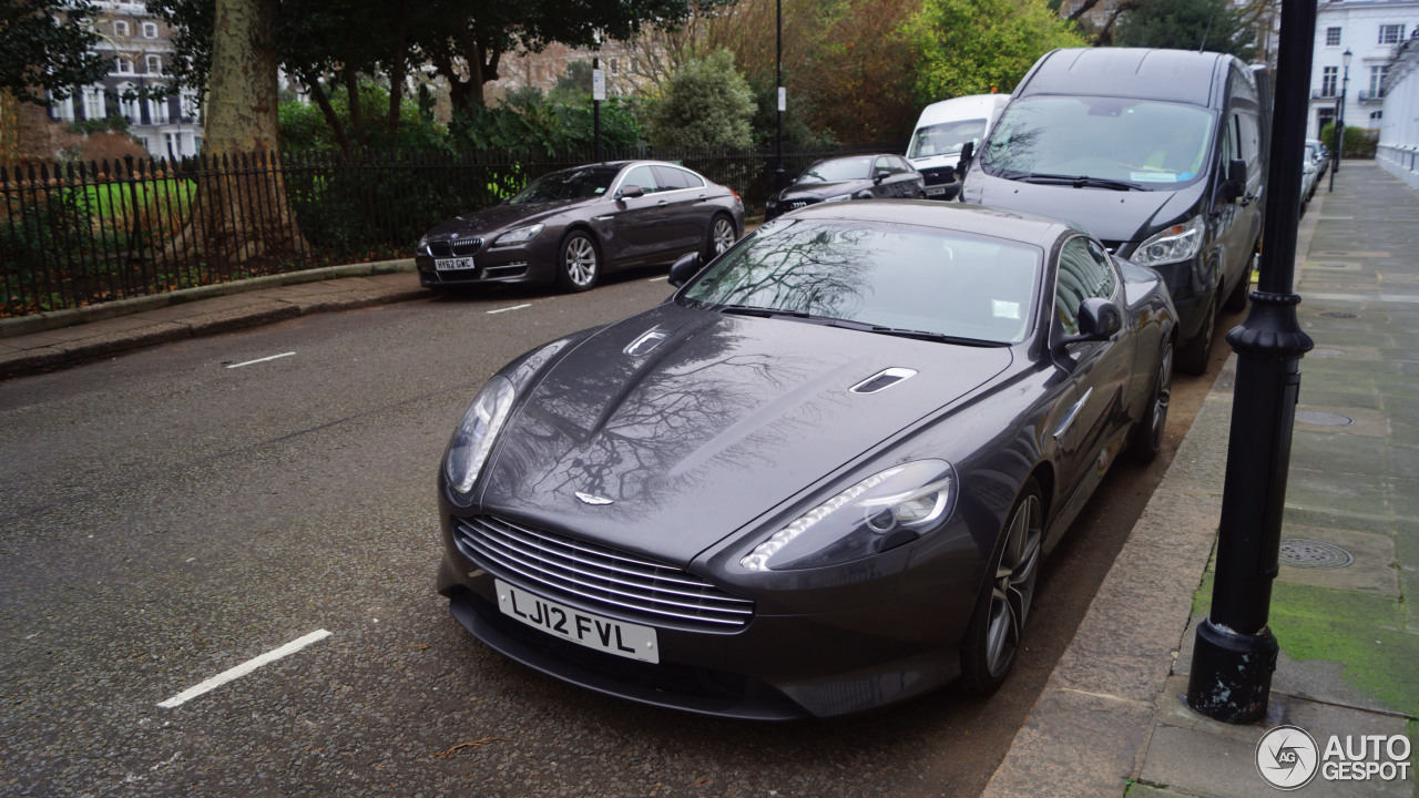
[[763, 219], [820, 202], [917, 199], [927, 196], [921, 172], [900, 155], [850, 155], [809, 166], [792, 185], [769, 197]]

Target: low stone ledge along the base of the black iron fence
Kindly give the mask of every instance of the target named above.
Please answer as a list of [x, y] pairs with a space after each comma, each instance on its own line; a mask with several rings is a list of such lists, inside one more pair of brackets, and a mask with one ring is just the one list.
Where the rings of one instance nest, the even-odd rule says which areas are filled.
[[[115, 300], [112, 302], [87, 305], [82, 308], [67, 308], [62, 311], [50, 311], [35, 315], [0, 318], [0, 339], [16, 338], [18, 335], [33, 335], [47, 329], [104, 321], [143, 311], [153, 311], [169, 305], [196, 302], [199, 300], [210, 300], [213, 297], [226, 297], [228, 294], [260, 291], [263, 288], [278, 288], [281, 285], [299, 285], [301, 283], [319, 283], [322, 280], [335, 280], [341, 277], [373, 277], [376, 274], [397, 274], [404, 271], [414, 271], [414, 258], [355, 263], [348, 266], [325, 266], [321, 268], [307, 268], [304, 271], [291, 271], [287, 274], [270, 274], [265, 277], [253, 277], [250, 280], [234, 280], [231, 283], [197, 285], [196, 288], [180, 288], [177, 291], [149, 294], [146, 297], [131, 297], [128, 300]], [[4, 372], [0, 371], [0, 376], [3, 375]]]

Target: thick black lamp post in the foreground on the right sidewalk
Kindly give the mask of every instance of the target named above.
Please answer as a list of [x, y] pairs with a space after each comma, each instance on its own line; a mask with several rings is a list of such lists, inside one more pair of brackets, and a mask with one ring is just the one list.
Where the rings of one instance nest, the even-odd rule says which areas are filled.
[[[1315, 1], [1281, 0], [1277, 74], [1311, 74]], [[1291, 427], [1301, 385], [1300, 361], [1313, 346], [1301, 331], [1291, 290], [1300, 226], [1301, 163], [1310, 87], [1283, 80], [1276, 97], [1271, 169], [1266, 186], [1266, 247], [1252, 312], [1227, 334], [1237, 354], [1227, 443], [1218, 571], [1212, 609], [1198, 625], [1188, 706], [1225, 723], [1266, 714], [1280, 646], [1267, 626], [1277, 575]]]

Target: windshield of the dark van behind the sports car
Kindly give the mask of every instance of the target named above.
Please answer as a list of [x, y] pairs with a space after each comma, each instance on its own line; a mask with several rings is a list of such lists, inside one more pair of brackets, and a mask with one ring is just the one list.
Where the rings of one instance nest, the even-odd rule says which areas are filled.
[[1210, 111], [1114, 97], [1030, 97], [1005, 109], [982, 155], [988, 173], [1087, 176], [1169, 189], [1198, 177]]

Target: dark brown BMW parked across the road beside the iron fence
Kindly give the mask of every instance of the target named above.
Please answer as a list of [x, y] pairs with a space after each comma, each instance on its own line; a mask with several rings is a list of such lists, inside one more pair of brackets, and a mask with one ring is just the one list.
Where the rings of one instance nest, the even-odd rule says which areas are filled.
[[732, 189], [658, 160], [543, 175], [501, 204], [434, 227], [414, 254], [423, 285], [555, 283], [586, 291], [606, 271], [705, 260], [744, 231]]

